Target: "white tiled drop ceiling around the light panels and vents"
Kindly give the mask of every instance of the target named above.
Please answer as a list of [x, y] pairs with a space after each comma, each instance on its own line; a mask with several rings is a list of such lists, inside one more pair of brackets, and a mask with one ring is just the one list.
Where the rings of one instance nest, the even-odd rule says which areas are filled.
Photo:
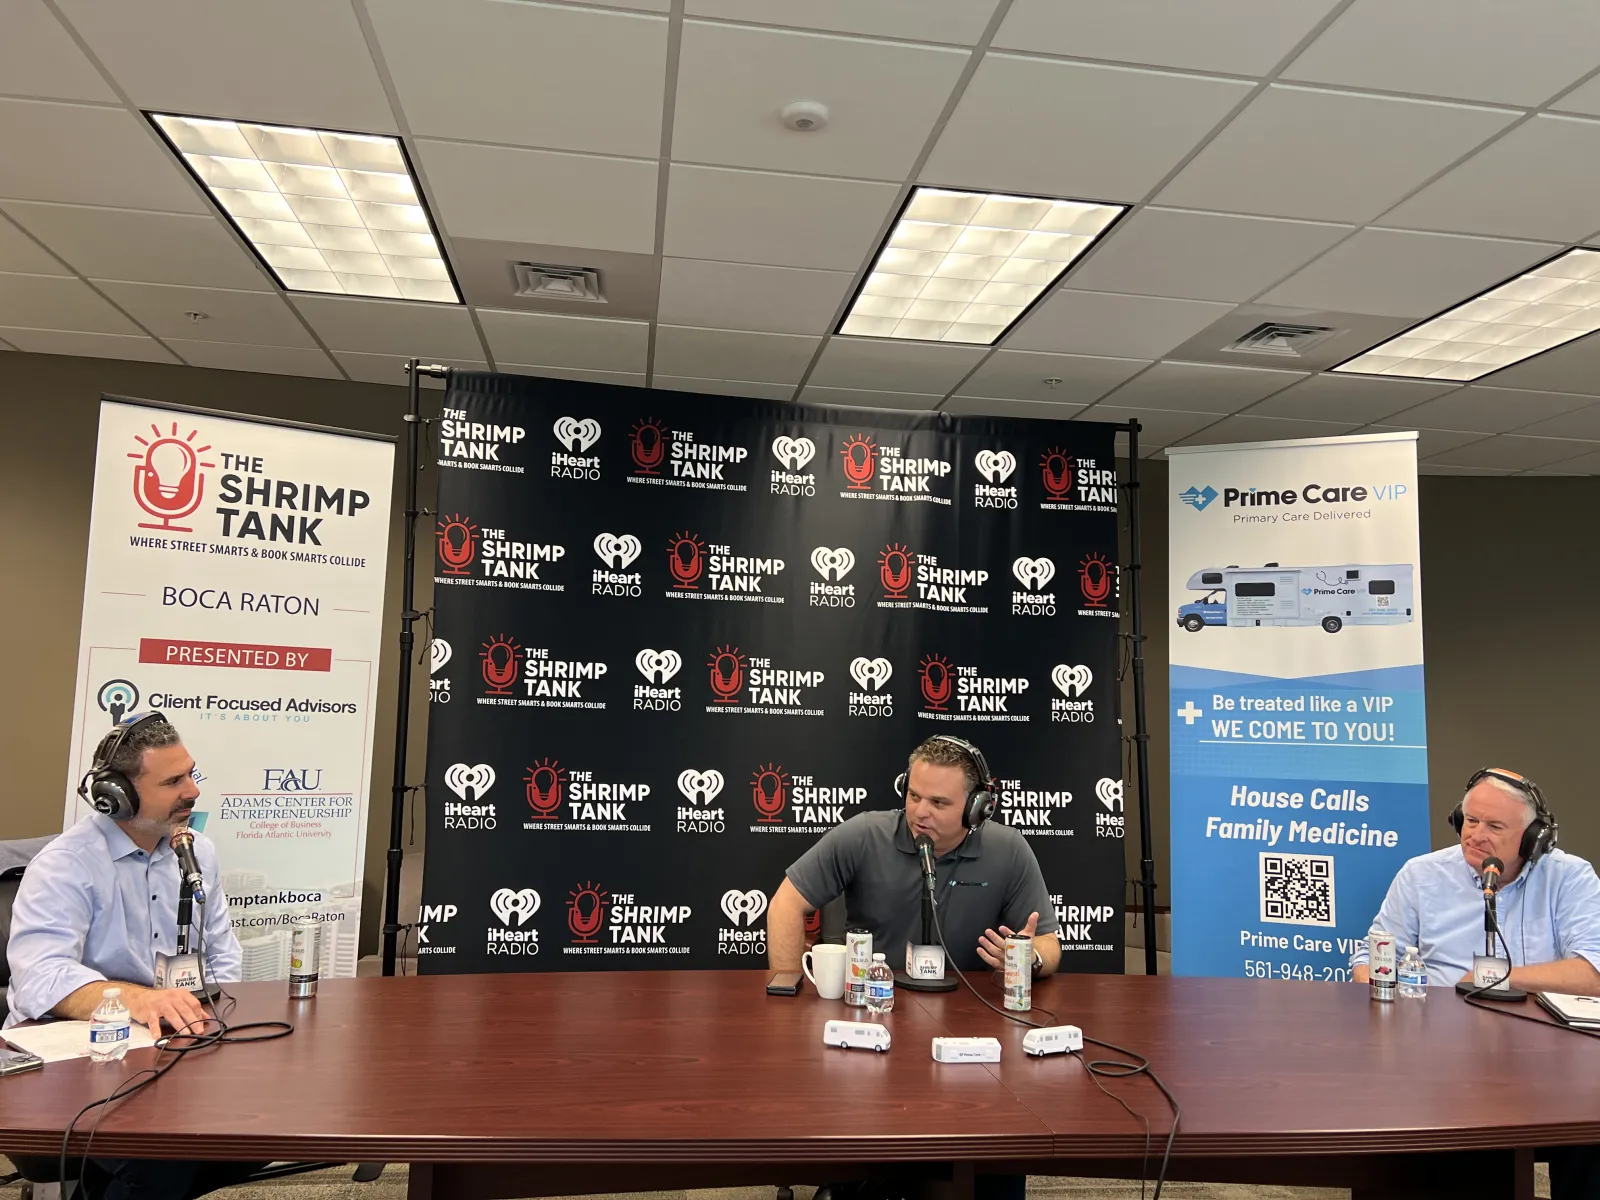
[[[1600, 334], [1467, 386], [1328, 371], [1600, 246], [1592, 0], [0, 0], [0, 349], [1139, 418], [1142, 453], [1418, 429], [1424, 472], [1600, 474]], [[802, 99], [824, 130], [779, 120]], [[467, 302], [285, 293], [152, 110], [400, 136]], [[1131, 211], [994, 347], [835, 336], [917, 184]], [[518, 296], [515, 262], [610, 302]], [[1336, 333], [1224, 349], [1264, 322]]]

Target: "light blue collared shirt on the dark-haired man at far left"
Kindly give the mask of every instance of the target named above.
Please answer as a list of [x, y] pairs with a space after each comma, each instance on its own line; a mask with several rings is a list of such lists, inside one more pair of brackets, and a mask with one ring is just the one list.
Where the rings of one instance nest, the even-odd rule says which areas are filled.
[[[216, 846], [195, 834], [205, 875], [206, 979], [235, 982], [243, 955], [227, 920]], [[45, 1016], [85, 984], [150, 987], [155, 955], [178, 952], [178, 854], [162, 838], [146, 854], [109, 816], [78, 821], [27, 864], [11, 909], [6, 1026]], [[200, 904], [190, 949], [200, 949]]]

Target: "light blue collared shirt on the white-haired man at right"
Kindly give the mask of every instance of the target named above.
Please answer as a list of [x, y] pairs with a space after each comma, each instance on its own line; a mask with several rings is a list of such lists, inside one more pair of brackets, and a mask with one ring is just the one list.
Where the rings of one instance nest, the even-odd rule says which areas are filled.
[[[1587, 859], [1552, 850], [1499, 890], [1496, 909], [1506, 939], [1498, 952], [1509, 950], [1512, 966], [1587, 958], [1600, 970], [1600, 878]], [[1378, 925], [1400, 954], [1421, 950], [1430, 987], [1454, 986], [1472, 974], [1472, 955], [1483, 954], [1483, 880], [1461, 846], [1421, 854], [1389, 885]], [[1365, 963], [1363, 939], [1350, 966]]]

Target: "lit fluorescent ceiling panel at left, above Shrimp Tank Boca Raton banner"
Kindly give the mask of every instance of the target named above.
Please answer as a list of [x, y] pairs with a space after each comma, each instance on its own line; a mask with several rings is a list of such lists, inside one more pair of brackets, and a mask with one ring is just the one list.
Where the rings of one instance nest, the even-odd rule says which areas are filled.
[[461, 304], [398, 138], [150, 120], [285, 290]]

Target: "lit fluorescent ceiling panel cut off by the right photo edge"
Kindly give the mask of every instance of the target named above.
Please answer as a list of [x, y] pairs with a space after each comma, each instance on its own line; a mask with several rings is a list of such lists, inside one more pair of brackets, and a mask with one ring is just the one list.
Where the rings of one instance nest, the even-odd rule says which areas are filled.
[[1600, 330], [1600, 251], [1568, 250], [1334, 371], [1478, 379]]

